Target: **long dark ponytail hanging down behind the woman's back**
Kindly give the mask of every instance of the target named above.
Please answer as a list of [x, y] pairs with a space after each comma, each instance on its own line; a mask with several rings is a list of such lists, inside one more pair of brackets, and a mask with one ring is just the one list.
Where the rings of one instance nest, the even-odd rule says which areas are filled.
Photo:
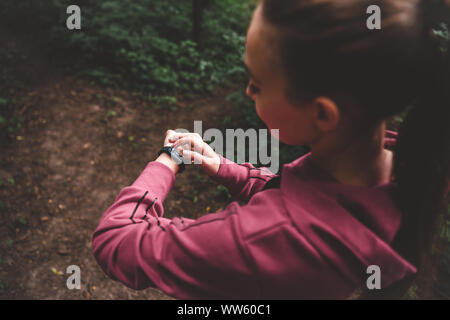
[[[429, 77], [405, 118], [395, 149], [394, 177], [403, 219], [393, 243], [418, 267], [419, 275], [431, 250], [437, 218], [447, 200], [450, 164], [450, 1], [422, 0], [422, 3], [424, 37], [430, 50]], [[441, 16], [443, 13], [447, 19]], [[447, 25], [441, 24], [444, 30], [432, 36], [436, 17]], [[440, 39], [444, 32], [447, 38]], [[446, 41], [436, 43], [436, 40]]]

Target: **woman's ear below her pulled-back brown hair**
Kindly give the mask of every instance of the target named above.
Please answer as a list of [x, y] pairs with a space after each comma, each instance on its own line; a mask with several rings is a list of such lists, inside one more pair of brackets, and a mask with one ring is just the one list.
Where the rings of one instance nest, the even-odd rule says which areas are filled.
[[334, 130], [341, 118], [341, 112], [337, 104], [327, 97], [316, 98], [313, 104], [316, 126], [325, 132]]

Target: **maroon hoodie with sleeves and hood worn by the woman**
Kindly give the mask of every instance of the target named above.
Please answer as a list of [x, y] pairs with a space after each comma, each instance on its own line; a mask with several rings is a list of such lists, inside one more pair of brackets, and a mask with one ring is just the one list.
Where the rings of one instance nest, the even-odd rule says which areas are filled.
[[380, 267], [382, 288], [417, 272], [390, 246], [402, 216], [394, 183], [343, 185], [310, 154], [281, 175], [220, 158], [212, 179], [248, 204], [197, 220], [163, 218], [175, 175], [149, 162], [93, 234], [107, 275], [182, 299], [345, 299], [366, 288], [370, 265]]

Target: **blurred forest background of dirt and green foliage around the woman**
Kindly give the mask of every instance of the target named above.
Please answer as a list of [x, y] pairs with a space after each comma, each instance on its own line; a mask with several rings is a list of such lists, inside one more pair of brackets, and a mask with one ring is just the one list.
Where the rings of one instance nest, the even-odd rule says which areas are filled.
[[[0, 298], [171, 299], [107, 278], [91, 235], [119, 191], [156, 158], [167, 129], [266, 128], [245, 95], [256, 0], [0, 2]], [[439, 36], [448, 41], [443, 26]], [[402, 117], [392, 119], [398, 128]], [[426, 146], [422, 146], [426, 147]], [[307, 150], [279, 148], [281, 165]], [[281, 167], [281, 166], [280, 166]], [[197, 218], [232, 201], [190, 167], [164, 203]], [[450, 298], [450, 210], [410, 299]], [[81, 290], [68, 290], [69, 265]]]

